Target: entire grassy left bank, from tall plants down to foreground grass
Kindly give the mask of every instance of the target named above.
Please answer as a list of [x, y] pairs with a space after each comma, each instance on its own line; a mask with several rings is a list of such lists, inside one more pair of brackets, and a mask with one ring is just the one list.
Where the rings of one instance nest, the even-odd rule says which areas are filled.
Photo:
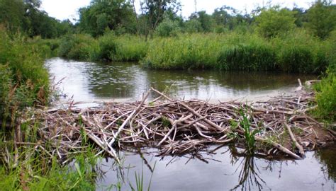
[[47, 143], [39, 149], [38, 119], [30, 116], [18, 126], [18, 117], [30, 115], [26, 108], [47, 104], [50, 82], [43, 64], [55, 44], [0, 30], [0, 190], [94, 190], [93, 152], [85, 148], [85, 154], [69, 156], [75, 168], [62, 166]]

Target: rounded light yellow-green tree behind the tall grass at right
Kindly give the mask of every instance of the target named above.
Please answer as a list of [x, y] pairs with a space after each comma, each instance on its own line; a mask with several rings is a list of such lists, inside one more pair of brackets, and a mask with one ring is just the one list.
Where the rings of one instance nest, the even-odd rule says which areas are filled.
[[257, 31], [264, 37], [275, 37], [295, 27], [294, 13], [279, 6], [262, 9], [255, 22]]

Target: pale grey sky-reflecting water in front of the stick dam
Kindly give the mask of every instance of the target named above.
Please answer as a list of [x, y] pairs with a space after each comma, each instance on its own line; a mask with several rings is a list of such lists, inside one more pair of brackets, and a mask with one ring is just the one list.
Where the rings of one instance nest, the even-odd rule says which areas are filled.
[[136, 187], [135, 173], [143, 178], [144, 190], [150, 184], [151, 190], [335, 190], [336, 186], [335, 147], [308, 152], [302, 161], [236, 156], [228, 146], [205, 155], [206, 161], [190, 155], [160, 158], [152, 151], [124, 153], [123, 168], [103, 159], [97, 190], [118, 183], [122, 190], [130, 190], [129, 184]]

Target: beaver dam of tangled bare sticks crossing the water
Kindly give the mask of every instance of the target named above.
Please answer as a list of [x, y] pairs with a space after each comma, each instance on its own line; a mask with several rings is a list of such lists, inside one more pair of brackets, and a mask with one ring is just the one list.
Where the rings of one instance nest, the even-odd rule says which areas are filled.
[[[146, 102], [150, 91], [158, 97]], [[119, 150], [149, 147], [158, 149], [160, 156], [184, 155], [229, 143], [245, 149], [246, 154], [302, 159], [305, 151], [335, 140], [335, 132], [307, 115], [315, 95], [302, 86], [294, 95], [250, 104], [176, 100], [154, 88], [150, 91], [135, 103], [34, 110], [29, 115], [33, 117], [23, 116], [22, 122], [38, 119], [41, 140], [35, 149], [64, 162], [86, 142], [96, 145], [99, 154], [119, 161]], [[16, 142], [29, 144], [21, 142], [20, 136]]]

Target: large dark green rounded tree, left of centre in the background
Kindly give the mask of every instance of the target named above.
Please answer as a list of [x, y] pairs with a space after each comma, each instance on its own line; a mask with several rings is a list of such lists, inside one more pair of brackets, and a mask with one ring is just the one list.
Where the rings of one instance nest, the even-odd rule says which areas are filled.
[[106, 29], [125, 28], [135, 33], [135, 13], [129, 1], [92, 0], [90, 6], [79, 9], [79, 28], [94, 37], [103, 35]]

